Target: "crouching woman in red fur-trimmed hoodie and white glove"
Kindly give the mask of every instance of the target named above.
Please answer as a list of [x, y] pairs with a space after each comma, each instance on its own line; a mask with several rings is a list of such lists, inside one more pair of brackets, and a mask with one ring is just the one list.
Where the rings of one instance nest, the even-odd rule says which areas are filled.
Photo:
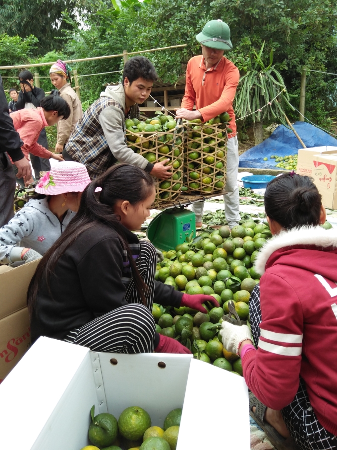
[[326, 212], [307, 176], [271, 181], [265, 209], [273, 238], [255, 262], [252, 333], [223, 322], [223, 342], [240, 354], [250, 415], [277, 449], [336, 449], [337, 230], [319, 226]]

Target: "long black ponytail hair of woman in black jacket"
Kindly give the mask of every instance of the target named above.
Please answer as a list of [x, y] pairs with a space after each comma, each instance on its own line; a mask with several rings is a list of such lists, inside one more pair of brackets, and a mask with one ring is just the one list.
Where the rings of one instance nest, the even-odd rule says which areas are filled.
[[[154, 179], [150, 174], [131, 164], [115, 164], [101, 177], [88, 184], [83, 191], [77, 214], [45, 253], [30, 282], [27, 295], [30, 313], [34, 309], [42, 280], [45, 279], [49, 287], [48, 281], [58, 259], [80, 234], [97, 224], [108, 225], [117, 232], [127, 252], [137, 292], [143, 304], [146, 304], [147, 286], [138, 272], [124, 235], [124, 227], [120, 223], [120, 217], [114, 214], [113, 207], [116, 201], [121, 199], [128, 200], [132, 205], [145, 200], [151, 195], [154, 185]], [[102, 188], [99, 194], [95, 193], [97, 188]]]

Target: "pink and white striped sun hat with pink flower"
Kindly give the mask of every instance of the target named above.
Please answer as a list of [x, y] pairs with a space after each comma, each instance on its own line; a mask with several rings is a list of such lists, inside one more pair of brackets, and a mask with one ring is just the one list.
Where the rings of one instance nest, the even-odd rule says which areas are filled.
[[46, 195], [83, 192], [90, 182], [85, 165], [75, 161], [61, 161], [40, 178], [35, 191]]

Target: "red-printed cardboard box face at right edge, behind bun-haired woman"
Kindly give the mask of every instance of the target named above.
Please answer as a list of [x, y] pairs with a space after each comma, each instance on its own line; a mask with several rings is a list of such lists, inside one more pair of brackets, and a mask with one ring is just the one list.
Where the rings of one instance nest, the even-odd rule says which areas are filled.
[[337, 154], [314, 155], [314, 183], [326, 208], [337, 209]]

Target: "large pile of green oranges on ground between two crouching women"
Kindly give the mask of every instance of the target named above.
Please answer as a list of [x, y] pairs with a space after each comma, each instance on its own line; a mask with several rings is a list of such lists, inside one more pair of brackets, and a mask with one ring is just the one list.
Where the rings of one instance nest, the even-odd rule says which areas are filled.
[[218, 332], [223, 315], [229, 312], [229, 300], [240, 319], [248, 319], [248, 300], [260, 279], [253, 264], [270, 237], [268, 225], [249, 220], [231, 230], [222, 226], [203, 232], [192, 243], [164, 252], [164, 261], [157, 265], [157, 280], [190, 295], [211, 295], [220, 307], [206, 303], [204, 314], [188, 307], [164, 309], [154, 304], [157, 332], [178, 338], [196, 358], [242, 375], [240, 359], [228, 354]]

